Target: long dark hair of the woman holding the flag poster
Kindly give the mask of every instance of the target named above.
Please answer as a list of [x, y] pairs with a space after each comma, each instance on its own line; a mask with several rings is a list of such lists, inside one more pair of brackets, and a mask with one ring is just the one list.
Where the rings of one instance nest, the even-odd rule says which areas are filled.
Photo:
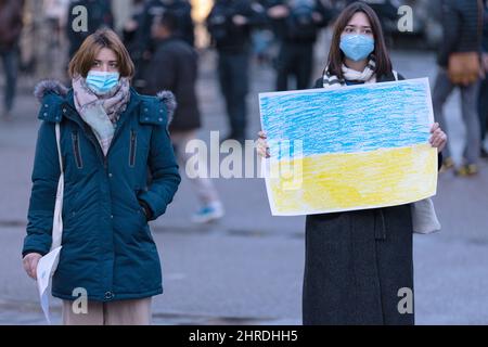
[[329, 73], [332, 75], [336, 75], [338, 78], [344, 78], [342, 65], [344, 62], [344, 53], [339, 48], [341, 44], [341, 35], [344, 31], [344, 28], [349, 23], [350, 18], [358, 13], [362, 12], [367, 15], [368, 20], [371, 24], [371, 29], [374, 35], [374, 51], [373, 54], [375, 56], [376, 76], [384, 76], [391, 73], [391, 61], [389, 60], [388, 52], [386, 51], [385, 38], [383, 36], [382, 25], [380, 23], [380, 18], [373, 9], [371, 9], [368, 4], [363, 2], [354, 2], [348, 5], [344, 11], [339, 14], [335, 22], [334, 34], [332, 36], [331, 50], [329, 52], [328, 66]]

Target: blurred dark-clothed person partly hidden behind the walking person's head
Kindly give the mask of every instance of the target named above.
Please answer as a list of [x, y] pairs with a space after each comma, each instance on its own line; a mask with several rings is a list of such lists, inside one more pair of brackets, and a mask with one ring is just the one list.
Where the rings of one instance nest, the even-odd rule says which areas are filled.
[[151, 36], [151, 29], [157, 17], [165, 12], [171, 12], [178, 17], [178, 28], [175, 36], [183, 39], [188, 44], [194, 46], [195, 34], [192, 20], [192, 7], [187, 0], [149, 0], [142, 11], [141, 24], [136, 34], [137, 48], [133, 54], [137, 56], [134, 87], [144, 90], [146, 75], [145, 68], [151, 61], [151, 55], [156, 44]]

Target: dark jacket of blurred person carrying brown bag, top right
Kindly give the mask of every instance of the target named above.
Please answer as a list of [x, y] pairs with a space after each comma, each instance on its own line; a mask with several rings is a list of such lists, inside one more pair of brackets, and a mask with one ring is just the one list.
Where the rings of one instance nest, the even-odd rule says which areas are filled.
[[481, 44], [483, 17], [478, 0], [442, 0], [444, 40], [437, 63], [447, 67], [449, 55], [455, 52], [476, 52]]

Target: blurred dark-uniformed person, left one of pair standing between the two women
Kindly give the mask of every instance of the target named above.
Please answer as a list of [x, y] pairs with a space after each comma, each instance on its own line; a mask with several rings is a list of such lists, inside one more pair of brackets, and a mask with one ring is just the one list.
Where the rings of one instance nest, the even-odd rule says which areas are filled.
[[207, 29], [218, 53], [220, 89], [230, 123], [230, 133], [222, 141], [233, 139], [244, 144], [251, 35], [254, 27], [265, 22], [265, 8], [247, 0], [217, 0], [207, 17]]

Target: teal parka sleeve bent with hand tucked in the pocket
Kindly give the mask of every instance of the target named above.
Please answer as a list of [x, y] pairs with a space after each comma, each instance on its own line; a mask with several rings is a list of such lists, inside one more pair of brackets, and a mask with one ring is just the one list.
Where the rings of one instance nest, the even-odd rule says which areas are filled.
[[149, 168], [152, 183], [138, 198], [150, 207], [149, 220], [166, 211], [181, 181], [167, 126], [156, 126], [151, 136]]

